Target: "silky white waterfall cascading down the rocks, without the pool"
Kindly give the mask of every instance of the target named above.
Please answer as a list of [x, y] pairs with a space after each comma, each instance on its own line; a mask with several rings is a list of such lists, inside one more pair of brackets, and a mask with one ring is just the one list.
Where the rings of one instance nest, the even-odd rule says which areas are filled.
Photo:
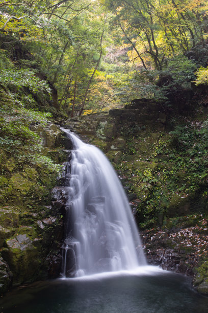
[[63, 277], [145, 265], [138, 230], [119, 178], [105, 155], [69, 130]]

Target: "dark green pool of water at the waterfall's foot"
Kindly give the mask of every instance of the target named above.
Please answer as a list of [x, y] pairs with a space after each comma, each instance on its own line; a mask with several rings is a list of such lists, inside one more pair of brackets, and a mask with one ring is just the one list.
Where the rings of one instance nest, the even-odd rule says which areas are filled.
[[3, 297], [2, 312], [207, 313], [208, 298], [185, 276], [152, 272], [38, 282]]

